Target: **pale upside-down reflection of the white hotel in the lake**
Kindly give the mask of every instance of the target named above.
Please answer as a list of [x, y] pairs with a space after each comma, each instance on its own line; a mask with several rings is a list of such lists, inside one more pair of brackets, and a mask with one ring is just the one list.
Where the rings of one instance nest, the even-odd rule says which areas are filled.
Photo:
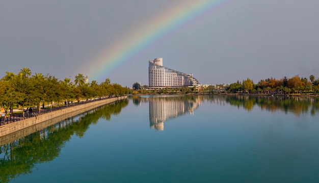
[[164, 122], [185, 114], [194, 114], [200, 100], [182, 100], [175, 97], [149, 98], [150, 127], [164, 130]]

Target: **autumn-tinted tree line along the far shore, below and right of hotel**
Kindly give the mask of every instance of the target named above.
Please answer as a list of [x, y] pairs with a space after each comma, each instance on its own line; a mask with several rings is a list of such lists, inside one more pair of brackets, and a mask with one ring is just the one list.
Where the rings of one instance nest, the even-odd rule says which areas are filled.
[[315, 80], [314, 75], [300, 77], [296, 75], [291, 78], [284, 76], [282, 79], [260, 80], [255, 84], [249, 77], [243, 82], [237, 81], [232, 84], [209, 85], [202, 87], [179, 87], [179, 88], [162, 88], [147, 90], [148, 86], [141, 86], [139, 83], [132, 85], [132, 94], [175, 94], [175, 93], [246, 93], [246, 94], [290, 94], [290, 93], [313, 93], [319, 91], [319, 79]]

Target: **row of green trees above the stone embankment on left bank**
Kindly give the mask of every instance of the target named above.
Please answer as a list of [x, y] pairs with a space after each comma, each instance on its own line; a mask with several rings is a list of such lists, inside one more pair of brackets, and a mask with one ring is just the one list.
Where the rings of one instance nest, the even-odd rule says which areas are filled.
[[39, 110], [44, 103], [89, 100], [115, 95], [128, 94], [128, 89], [119, 84], [111, 84], [110, 79], [98, 84], [95, 80], [86, 83], [83, 74], [59, 80], [50, 74], [34, 73], [29, 68], [23, 68], [18, 74], [6, 72], [0, 80], [0, 107], [5, 113], [12, 111], [13, 107], [23, 109], [36, 106]]

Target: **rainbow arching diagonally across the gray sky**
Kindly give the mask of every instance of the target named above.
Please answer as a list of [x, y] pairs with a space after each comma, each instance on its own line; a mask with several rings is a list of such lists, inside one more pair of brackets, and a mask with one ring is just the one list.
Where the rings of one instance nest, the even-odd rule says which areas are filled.
[[[212, 11], [229, 4], [232, 0], [187, 0], [182, 4], [173, 5], [155, 18], [136, 26], [127, 37], [121, 38], [112, 47], [102, 50], [98, 58], [86, 66], [90, 80], [105, 80], [120, 65], [134, 60], [143, 51], [165, 36], [177, 31], [179, 28], [201, 19]], [[98, 67], [96, 67], [98, 66]]]

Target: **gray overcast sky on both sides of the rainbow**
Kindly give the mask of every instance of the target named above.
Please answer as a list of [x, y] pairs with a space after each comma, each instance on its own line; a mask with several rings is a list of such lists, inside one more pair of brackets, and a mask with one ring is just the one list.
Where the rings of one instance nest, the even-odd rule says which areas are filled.
[[154, 58], [193, 73], [202, 84], [319, 77], [317, 0], [224, 1], [228, 4], [169, 32], [114, 72], [99, 78], [88, 73], [87, 66], [99, 68], [93, 58], [125, 42], [141, 22], [155, 21], [183, 2], [2, 1], [0, 77], [28, 67], [33, 74], [49, 73], [60, 80], [74, 81], [82, 73], [98, 83], [109, 78], [122, 86], [148, 85], [148, 61]]

